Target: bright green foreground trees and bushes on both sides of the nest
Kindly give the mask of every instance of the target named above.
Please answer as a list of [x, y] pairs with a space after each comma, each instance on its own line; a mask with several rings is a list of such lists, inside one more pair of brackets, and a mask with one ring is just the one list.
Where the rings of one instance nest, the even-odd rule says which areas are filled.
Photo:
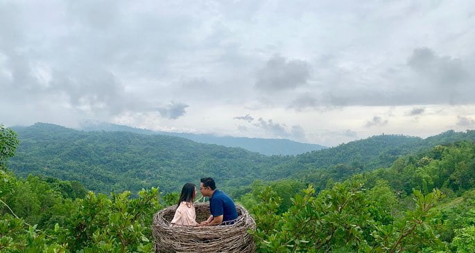
[[[16, 134], [0, 134], [1, 252], [153, 252], [151, 218], [173, 194], [106, 196], [77, 182], [17, 178], [5, 165]], [[474, 252], [474, 187], [475, 143], [465, 140], [320, 191], [302, 180], [256, 181], [239, 202], [256, 220], [258, 252]]]

